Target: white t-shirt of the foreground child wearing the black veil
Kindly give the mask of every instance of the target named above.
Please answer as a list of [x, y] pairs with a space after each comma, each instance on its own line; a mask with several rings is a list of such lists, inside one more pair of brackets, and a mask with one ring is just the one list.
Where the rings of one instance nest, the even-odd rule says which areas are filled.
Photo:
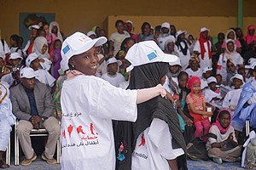
[[137, 138], [131, 158], [131, 169], [171, 170], [167, 160], [173, 160], [183, 154], [183, 149], [172, 148], [172, 134], [168, 124], [154, 118], [150, 127]]

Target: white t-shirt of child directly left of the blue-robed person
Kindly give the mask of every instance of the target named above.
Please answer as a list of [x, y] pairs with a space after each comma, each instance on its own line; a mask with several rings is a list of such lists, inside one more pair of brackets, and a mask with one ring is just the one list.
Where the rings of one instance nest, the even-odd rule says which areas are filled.
[[[238, 104], [238, 100], [240, 98], [241, 90], [242, 88], [230, 90], [226, 94], [222, 106], [226, 109], [230, 109], [230, 107], [232, 107], [232, 109], [236, 109], [236, 105]], [[232, 113], [234, 113], [234, 111], [232, 111]]]

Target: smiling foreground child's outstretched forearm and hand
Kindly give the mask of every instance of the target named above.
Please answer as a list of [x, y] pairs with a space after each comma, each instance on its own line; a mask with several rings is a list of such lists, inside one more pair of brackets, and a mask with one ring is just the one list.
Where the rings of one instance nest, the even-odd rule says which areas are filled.
[[162, 85], [157, 85], [154, 88], [143, 88], [137, 89], [137, 104], [141, 104], [148, 99], [153, 99], [154, 97], [161, 95], [162, 97], [166, 96], [166, 90]]

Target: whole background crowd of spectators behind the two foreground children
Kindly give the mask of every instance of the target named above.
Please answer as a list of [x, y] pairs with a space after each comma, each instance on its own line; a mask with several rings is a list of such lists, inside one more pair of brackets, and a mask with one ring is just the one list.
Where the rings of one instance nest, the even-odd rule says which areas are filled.
[[[225, 34], [218, 33], [218, 42], [213, 44], [206, 27], [201, 28], [196, 40], [195, 35], [177, 31], [167, 22], [155, 27], [144, 22], [139, 34], [134, 32], [131, 20], [117, 20], [115, 26], [117, 31], [96, 48], [99, 62], [95, 76], [126, 89], [132, 82], [130, 72], [126, 72], [131, 65], [125, 59], [129, 49], [136, 43], [156, 42], [162, 52], [178, 57], [169, 63], [163, 86], [176, 111], [187, 156], [200, 159], [189, 152], [194, 144], [203, 147], [199, 150], [205, 150], [207, 157], [219, 164], [240, 161], [242, 157], [246, 162], [242, 166], [253, 168], [255, 136], [245, 146], [245, 156], [241, 156], [241, 150], [247, 138], [243, 133], [246, 121], [251, 128], [256, 127], [256, 27], [248, 26], [246, 36], [241, 28], [230, 28]], [[61, 88], [69, 70], [61, 56], [65, 37], [55, 21], [28, 29], [31, 35], [25, 47], [18, 35], [10, 36], [9, 45], [0, 42], [0, 168], [9, 167], [3, 161], [3, 152], [15, 119], [25, 155], [20, 164], [30, 165], [37, 159], [29, 135], [32, 128], [49, 132], [41, 157], [49, 164], [56, 163]], [[100, 26], [94, 26], [86, 35], [91, 39], [107, 37]]]

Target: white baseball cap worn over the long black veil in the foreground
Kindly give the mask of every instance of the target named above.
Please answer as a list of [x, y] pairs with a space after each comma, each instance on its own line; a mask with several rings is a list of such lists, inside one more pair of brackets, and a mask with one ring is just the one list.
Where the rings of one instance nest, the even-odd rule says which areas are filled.
[[131, 65], [126, 68], [126, 71], [129, 72], [138, 65], [154, 62], [175, 62], [177, 56], [165, 54], [154, 41], [145, 41], [134, 44], [128, 50], [125, 59], [129, 60], [131, 63]]

